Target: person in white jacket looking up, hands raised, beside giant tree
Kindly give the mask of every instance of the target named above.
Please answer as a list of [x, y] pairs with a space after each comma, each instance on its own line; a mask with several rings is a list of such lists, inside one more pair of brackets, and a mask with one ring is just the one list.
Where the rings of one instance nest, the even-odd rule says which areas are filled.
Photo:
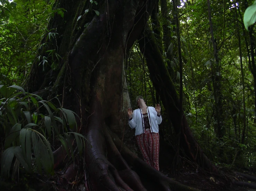
[[138, 109], [128, 108], [129, 126], [135, 128], [135, 138], [144, 161], [159, 170], [158, 125], [162, 122], [161, 107], [148, 107], [142, 96], [136, 98]]

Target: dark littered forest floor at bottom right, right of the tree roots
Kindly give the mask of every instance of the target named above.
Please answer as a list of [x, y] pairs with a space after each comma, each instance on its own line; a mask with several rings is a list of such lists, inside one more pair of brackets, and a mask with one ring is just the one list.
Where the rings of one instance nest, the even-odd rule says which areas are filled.
[[[170, 173], [168, 168], [161, 172], [173, 180], [202, 191], [256, 191], [256, 186], [255, 189], [252, 189], [246, 186], [240, 187], [233, 183], [240, 181], [252, 183], [251, 185], [254, 186], [256, 181], [250, 181], [238, 174], [237, 171], [231, 171], [230, 168], [219, 168], [219, 170], [221, 175], [215, 175], [199, 168], [191, 167], [191, 165], [184, 165], [183, 168], [179, 169], [179, 173]], [[251, 171], [240, 170], [240, 172], [252, 176], [256, 175]]]

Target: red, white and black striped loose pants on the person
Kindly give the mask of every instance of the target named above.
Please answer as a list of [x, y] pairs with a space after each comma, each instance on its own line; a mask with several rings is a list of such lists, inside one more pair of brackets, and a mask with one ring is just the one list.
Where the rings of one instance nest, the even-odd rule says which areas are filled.
[[136, 135], [136, 141], [144, 161], [159, 170], [159, 134], [151, 133], [150, 129], [145, 129], [145, 133]]

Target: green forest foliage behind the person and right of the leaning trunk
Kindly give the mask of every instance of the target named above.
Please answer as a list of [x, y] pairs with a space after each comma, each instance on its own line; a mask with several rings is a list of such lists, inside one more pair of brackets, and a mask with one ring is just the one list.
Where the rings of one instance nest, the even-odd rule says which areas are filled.
[[[255, 111], [254, 111], [254, 78], [249, 70], [248, 53], [246, 41], [249, 35], [243, 31], [243, 20], [253, 19], [246, 15], [246, 1], [210, 1], [214, 39], [218, 49], [219, 65], [215, 61], [212, 48], [212, 40], [209, 26], [207, 1], [181, 1], [183, 6], [179, 7], [179, 20], [181, 30], [181, 45], [183, 57], [183, 82], [184, 82], [184, 110], [193, 135], [199, 142], [206, 155], [217, 165], [228, 165], [232, 163], [236, 167], [250, 167], [255, 164]], [[248, 5], [254, 0], [249, 0]], [[254, 6], [254, 5], [253, 5]], [[168, 2], [168, 13], [166, 18], [160, 17], [159, 6], [158, 19], [160, 21], [160, 44], [164, 44], [166, 38], [163, 33], [163, 25], [167, 24], [170, 30], [170, 41], [166, 51], [162, 52], [164, 61], [170, 76], [176, 86], [179, 80], [177, 59], [177, 35], [172, 13], [173, 5]], [[238, 9], [239, 8], [239, 9]], [[236, 11], [238, 12], [239, 30], [236, 26]], [[243, 13], [245, 14], [243, 15]], [[241, 14], [241, 17], [240, 17]], [[151, 23], [154, 25], [155, 23]], [[246, 27], [246, 26], [245, 26]], [[253, 28], [255, 31], [255, 28]], [[243, 111], [242, 77], [239, 58], [238, 33], [241, 38], [242, 63], [245, 78], [245, 105]], [[255, 33], [255, 32], [253, 32]], [[255, 34], [253, 34], [255, 38]], [[255, 43], [253, 41], [253, 43]], [[249, 47], [250, 48], [250, 47]], [[165, 47], [163, 47], [165, 49]], [[168, 55], [170, 54], [170, 55]], [[126, 79], [131, 97], [133, 109], [136, 109], [134, 99], [138, 95], [147, 97], [147, 104], [152, 105], [156, 100], [157, 92], [152, 87], [144, 62], [143, 55], [136, 47], [130, 50], [127, 59]], [[217, 117], [215, 114], [215, 100], [213, 80], [219, 80], [219, 91], [221, 92], [222, 130], [223, 138], [217, 137]], [[160, 126], [164, 138], [175, 145], [173, 130], [163, 110], [163, 122]], [[217, 111], [218, 112], [218, 111]], [[243, 117], [246, 116], [246, 132], [244, 144], [241, 144]], [[220, 154], [220, 151], [222, 154]], [[236, 153], [240, 153], [235, 159]]]

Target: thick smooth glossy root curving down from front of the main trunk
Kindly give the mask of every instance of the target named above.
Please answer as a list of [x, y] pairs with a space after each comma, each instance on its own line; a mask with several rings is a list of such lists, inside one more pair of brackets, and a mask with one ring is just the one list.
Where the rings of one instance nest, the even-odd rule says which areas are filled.
[[94, 113], [87, 127], [86, 164], [95, 190], [132, 189], [122, 180], [115, 167], [105, 157], [105, 138], [102, 132], [102, 109], [98, 100], [93, 102]]

